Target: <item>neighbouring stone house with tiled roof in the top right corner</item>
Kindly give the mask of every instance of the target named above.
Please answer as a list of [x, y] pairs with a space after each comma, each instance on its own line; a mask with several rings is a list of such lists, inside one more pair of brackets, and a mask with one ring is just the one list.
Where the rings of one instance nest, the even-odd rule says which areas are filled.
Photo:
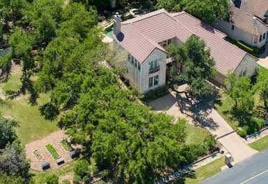
[[261, 48], [268, 42], [268, 1], [232, 0], [229, 17], [216, 25], [236, 41], [242, 40], [251, 46]]

